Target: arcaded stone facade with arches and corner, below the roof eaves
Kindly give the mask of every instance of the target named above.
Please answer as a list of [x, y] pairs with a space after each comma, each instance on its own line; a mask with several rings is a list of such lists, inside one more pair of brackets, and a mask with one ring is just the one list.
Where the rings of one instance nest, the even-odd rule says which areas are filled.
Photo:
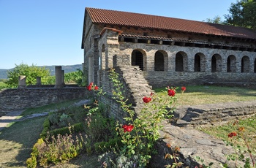
[[118, 35], [111, 31], [108, 37], [99, 39], [97, 46], [99, 53], [92, 56], [94, 61], [88, 61], [94, 69], [90, 71], [89, 81], [102, 81], [101, 73], [115, 66], [138, 66], [153, 88], [212, 82], [255, 83], [256, 80], [253, 51], [119, 42]]

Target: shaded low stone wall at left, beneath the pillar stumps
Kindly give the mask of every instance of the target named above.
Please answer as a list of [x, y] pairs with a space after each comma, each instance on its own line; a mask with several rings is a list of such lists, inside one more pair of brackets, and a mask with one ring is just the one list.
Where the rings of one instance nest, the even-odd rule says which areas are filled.
[[0, 115], [12, 110], [86, 98], [91, 94], [80, 87], [4, 89], [0, 91]]

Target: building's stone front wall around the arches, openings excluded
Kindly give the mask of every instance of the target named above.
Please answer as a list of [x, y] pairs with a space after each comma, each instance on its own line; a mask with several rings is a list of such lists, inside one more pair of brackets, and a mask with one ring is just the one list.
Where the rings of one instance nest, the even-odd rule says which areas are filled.
[[[256, 81], [255, 52], [131, 42], [120, 42], [119, 49], [118, 56], [116, 56], [118, 65], [130, 62], [133, 50], [140, 50], [143, 53], [143, 60], [146, 59], [145, 64], [143, 64], [143, 73], [153, 88], [166, 87], [167, 85], [203, 85], [206, 82], [255, 83]], [[154, 56], [157, 51], [161, 51], [167, 56], [165, 71], [154, 71]], [[183, 53], [187, 58], [187, 62], [184, 62], [184, 67], [187, 68], [183, 72], [176, 72], [175, 70], [177, 53]], [[202, 72], [195, 72], [194, 70], [195, 55], [198, 53], [205, 58], [205, 61], [201, 63], [205, 66]], [[215, 54], [221, 57], [220, 72], [211, 72], [211, 58]], [[229, 56], [236, 57], [235, 72], [227, 72], [227, 58]], [[249, 58], [249, 72], [241, 72], [241, 60], [244, 56]]]

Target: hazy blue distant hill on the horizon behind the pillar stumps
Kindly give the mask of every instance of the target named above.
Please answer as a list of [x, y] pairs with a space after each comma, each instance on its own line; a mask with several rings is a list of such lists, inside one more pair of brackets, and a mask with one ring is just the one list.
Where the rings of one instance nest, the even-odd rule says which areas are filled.
[[[43, 66], [39, 66], [43, 67]], [[55, 75], [55, 65], [53, 66], [45, 66], [46, 69], [50, 70], [50, 75]], [[75, 72], [77, 69], [82, 70], [82, 64], [77, 65], [62, 65], [62, 70], [64, 70], [65, 74], [69, 72]], [[0, 69], [0, 79], [7, 79], [7, 72], [12, 71], [12, 69]]]

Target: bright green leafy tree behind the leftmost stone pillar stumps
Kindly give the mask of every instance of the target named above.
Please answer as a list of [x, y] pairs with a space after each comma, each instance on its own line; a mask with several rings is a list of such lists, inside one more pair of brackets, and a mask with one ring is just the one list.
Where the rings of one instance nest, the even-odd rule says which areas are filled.
[[9, 88], [17, 88], [18, 87], [18, 77], [20, 75], [26, 76], [26, 84], [27, 85], [35, 85], [37, 83], [37, 77], [42, 77], [42, 84], [46, 83], [48, 77], [50, 77], [49, 69], [45, 69], [45, 67], [39, 67], [32, 64], [31, 66], [27, 64], [16, 65], [12, 71], [9, 71], [7, 74], [8, 80], [7, 85]]

